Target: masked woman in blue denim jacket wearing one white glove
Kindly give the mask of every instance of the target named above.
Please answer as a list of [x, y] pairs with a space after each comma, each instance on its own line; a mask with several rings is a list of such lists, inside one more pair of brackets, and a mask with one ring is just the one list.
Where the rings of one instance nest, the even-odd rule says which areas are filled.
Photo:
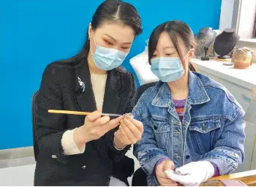
[[245, 112], [224, 86], [189, 63], [192, 30], [183, 22], [165, 22], [151, 34], [148, 49], [160, 81], [132, 111], [144, 124], [134, 153], [147, 184], [198, 186], [234, 171], [244, 158]]

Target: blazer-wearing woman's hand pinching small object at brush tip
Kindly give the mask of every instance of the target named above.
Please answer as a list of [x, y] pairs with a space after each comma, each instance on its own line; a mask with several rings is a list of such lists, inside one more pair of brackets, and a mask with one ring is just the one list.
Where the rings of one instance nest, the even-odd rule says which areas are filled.
[[124, 117], [120, 121], [119, 129], [115, 133], [114, 144], [118, 149], [132, 145], [141, 140], [143, 124], [134, 118]]

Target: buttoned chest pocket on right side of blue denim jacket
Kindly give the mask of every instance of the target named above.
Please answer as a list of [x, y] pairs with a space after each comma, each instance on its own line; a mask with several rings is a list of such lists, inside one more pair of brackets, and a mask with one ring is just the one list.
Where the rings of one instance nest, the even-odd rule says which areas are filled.
[[213, 150], [213, 142], [216, 142], [215, 133], [220, 127], [220, 119], [207, 119], [191, 122], [189, 125], [189, 141], [192, 141], [195, 153], [204, 154]]

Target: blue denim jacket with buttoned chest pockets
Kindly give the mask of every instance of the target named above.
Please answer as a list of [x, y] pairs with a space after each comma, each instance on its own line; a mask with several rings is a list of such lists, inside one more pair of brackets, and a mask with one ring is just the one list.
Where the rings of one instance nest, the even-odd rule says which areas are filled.
[[224, 86], [198, 72], [189, 72], [183, 121], [167, 83], [159, 81], [147, 89], [132, 115], [144, 124], [134, 154], [148, 175], [148, 185], [159, 185], [153, 173], [162, 158], [171, 159], [176, 168], [207, 160], [218, 166], [221, 175], [234, 171], [244, 158], [244, 114]]

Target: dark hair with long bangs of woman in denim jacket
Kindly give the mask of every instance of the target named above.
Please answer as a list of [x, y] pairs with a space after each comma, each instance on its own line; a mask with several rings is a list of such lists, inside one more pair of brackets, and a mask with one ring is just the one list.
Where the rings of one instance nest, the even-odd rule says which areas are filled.
[[[195, 48], [196, 42], [194, 34], [191, 28], [189, 28], [189, 25], [186, 25], [186, 23], [180, 21], [164, 22], [153, 30], [153, 33], [151, 34], [148, 42], [149, 63], [151, 64], [150, 60], [153, 57], [154, 51], [156, 51], [156, 45], [158, 43], [160, 35], [163, 32], [168, 33], [169, 37], [171, 38], [171, 42], [174, 44], [174, 48], [176, 49], [177, 53], [179, 54], [180, 60], [183, 63], [183, 67], [185, 67], [185, 62], [183, 60], [183, 55], [180, 50], [178, 38], [183, 40], [187, 51], [189, 51], [191, 48]], [[196, 71], [192, 63], [189, 63], [189, 70], [192, 70], [194, 72]]]

